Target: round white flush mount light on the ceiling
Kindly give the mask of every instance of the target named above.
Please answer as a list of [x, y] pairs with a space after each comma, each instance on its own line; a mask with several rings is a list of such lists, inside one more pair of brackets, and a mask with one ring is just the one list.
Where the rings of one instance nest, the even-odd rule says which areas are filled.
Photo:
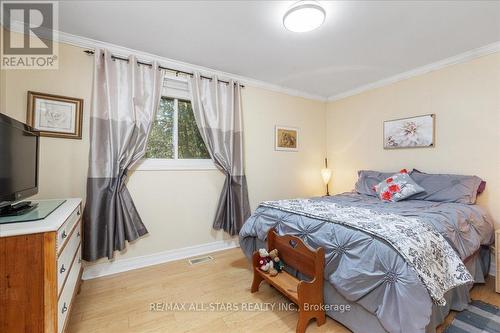
[[316, 1], [298, 1], [283, 16], [283, 25], [293, 32], [319, 28], [325, 21], [325, 10]]

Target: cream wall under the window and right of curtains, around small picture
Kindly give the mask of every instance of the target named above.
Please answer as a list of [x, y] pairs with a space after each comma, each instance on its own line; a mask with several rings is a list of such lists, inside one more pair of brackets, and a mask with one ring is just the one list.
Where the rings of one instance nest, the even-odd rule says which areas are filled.
[[[320, 195], [325, 156], [325, 104], [259, 88], [242, 96], [250, 204]], [[274, 126], [300, 128], [299, 152], [274, 150]], [[135, 171], [128, 188], [149, 230], [125, 257], [227, 239], [212, 229], [224, 176], [207, 171]], [[146, 240], [147, 239], [147, 240]]]

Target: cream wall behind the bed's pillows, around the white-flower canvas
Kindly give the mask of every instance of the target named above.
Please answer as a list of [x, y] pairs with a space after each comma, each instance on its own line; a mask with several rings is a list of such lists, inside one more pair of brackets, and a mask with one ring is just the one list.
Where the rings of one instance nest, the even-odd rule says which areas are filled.
[[[384, 120], [428, 113], [435, 148], [382, 148]], [[334, 192], [353, 189], [360, 169], [475, 174], [500, 226], [500, 53], [328, 103], [327, 147]]]

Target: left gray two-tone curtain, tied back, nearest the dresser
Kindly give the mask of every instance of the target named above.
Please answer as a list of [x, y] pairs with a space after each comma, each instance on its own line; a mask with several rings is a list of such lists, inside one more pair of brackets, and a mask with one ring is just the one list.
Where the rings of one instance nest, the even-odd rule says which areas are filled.
[[113, 258], [126, 241], [147, 229], [125, 185], [127, 171], [146, 152], [160, 102], [162, 72], [158, 65], [114, 60], [95, 51], [90, 114], [87, 200], [83, 214], [83, 259]]

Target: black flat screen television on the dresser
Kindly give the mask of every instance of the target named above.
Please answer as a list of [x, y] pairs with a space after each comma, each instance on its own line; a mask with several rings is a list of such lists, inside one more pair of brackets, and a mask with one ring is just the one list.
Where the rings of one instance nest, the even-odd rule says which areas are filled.
[[20, 200], [38, 193], [39, 135], [0, 113], [0, 216], [34, 208]]

